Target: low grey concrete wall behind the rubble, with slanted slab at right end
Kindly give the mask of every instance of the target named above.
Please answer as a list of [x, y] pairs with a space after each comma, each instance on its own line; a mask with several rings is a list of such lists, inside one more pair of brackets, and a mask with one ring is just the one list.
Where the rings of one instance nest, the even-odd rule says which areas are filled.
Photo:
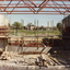
[[37, 47], [20, 47], [20, 46], [8, 46], [8, 51], [43, 51], [43, 52], [48, 52], [50, 50], [51, 47], [46, 47], [44, 49], [44, 47], [39, 47], [37, 49]]

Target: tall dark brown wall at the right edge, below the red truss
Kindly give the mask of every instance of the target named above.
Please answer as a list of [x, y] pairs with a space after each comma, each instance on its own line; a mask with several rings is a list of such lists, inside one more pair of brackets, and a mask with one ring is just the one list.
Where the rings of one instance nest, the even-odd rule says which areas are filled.
[[62, 26], [63, 49], [70, 50], [70, 15], [62, 20]]

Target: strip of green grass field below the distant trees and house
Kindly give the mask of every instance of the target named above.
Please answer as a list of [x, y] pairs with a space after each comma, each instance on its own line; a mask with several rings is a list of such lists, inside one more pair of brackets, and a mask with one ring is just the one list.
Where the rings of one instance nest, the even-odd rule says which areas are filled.
[[[37, 34], [37, 31], [27, 31], [27, 30], [22, 31], [22, 30], [18, 30], [18, 33], [15, 31], [15, 35], [16, 34], [21, 34], [21, 33], [24, 33], [26, 35], [32, 35], [32, 34]], [[60, 35], [59, 31], [38, 31], [38, 34], [45, 34], [45, 33]], [[14, 35], [14, 30], [10, 30], [9, 34], [10, 35]]]

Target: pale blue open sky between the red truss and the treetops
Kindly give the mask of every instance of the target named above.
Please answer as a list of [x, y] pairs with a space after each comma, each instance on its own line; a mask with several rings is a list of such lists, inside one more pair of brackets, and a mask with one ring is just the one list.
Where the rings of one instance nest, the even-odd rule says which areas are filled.
[[22, 22], [22, 20], [24, 20], [24, 25], [27, 25], [27, 23], [33, 23], [34, 21], [38, 20], [38, 25], [39, 26], [47, 26], [47, 22], [49, 21], [49, 25], [50, 22], [54, 20], [54, 26], [57, 25], [58, 22], [60, 22], [63, 19], [63, 15], [47, 15], [47, 14], [9, 14], [9, 15], [4, 15], [9, 21], [11, 20], [11, 24], [13, 24], [14, 22]]

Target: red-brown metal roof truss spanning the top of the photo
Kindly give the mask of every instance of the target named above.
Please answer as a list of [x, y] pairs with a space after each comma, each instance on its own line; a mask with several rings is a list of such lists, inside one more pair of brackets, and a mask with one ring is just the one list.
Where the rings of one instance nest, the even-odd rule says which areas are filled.
[[0, 14], [70, 15], [70, 0], [0, 0]]

